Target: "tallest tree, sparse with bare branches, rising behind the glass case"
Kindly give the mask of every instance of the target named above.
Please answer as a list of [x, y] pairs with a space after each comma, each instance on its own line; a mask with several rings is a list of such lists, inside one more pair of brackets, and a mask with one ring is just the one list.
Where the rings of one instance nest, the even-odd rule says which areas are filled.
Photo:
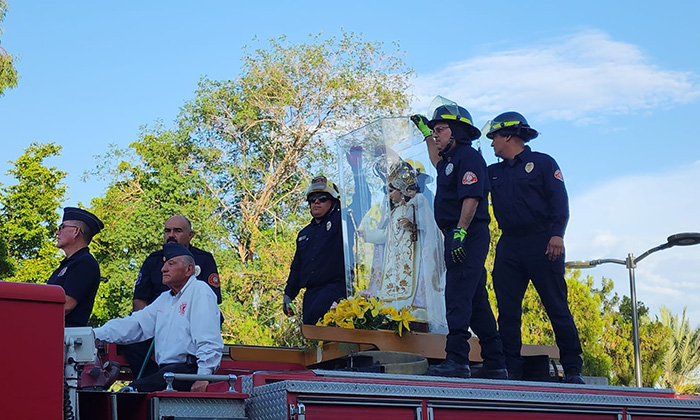
[[343, 33], [309, 44], [270, 40], [246, 52], [239, 78], [200, 82], [181, 129], [210, 152], [199, 167], [241, 263], [265, 252], [264, 232], [298, 213], [309, 171], [330, 166], [329, 139], [406, 109], [409, 74], [381, 44]]

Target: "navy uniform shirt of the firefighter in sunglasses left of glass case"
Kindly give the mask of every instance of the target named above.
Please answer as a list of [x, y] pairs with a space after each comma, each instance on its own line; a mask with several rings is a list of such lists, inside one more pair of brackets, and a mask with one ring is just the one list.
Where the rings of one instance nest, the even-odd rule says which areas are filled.
[[294, 299], [303, 287], [312, 288], [332, 282], [345, 283], [339, 207], [323, 216], [320, 223], [312, 220], [297, 235], [297, 249], [284, 294]]

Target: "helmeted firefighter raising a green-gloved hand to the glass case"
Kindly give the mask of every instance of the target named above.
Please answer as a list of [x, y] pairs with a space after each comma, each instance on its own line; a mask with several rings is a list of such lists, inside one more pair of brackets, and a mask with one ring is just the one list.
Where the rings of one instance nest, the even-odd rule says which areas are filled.
[[481, 132], [472, 125], [469, 112], [457, 105], [438, 107], [429, 122], [422, 116], [411, 119], [426, 137], [437, 169], [435, 220], [445, 234], [447, 357], [430, 366], [427, 374], [471, 376], [471, 327], [484, 359], [483, 369], [474, 376], [506, 379], [501, 339], [486, 291], [484, 262], [490, 243], [486, 162], [471, 147]]

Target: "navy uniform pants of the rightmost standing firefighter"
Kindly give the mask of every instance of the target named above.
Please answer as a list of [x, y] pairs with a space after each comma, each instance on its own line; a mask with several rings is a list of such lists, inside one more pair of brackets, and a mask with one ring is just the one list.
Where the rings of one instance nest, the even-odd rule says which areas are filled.
[[569, 311], [564, 255], [555, 261], [549, 260], [545, 251], [550, 238], [549, 232], [523, 236], [504, 234], [496, 246], [493, 286], [498, 300], [498, 327], [511, 377], [522, 375], [520, 325], [523, 297], [530, 280], [552, 323], [564, 372], [581, 373], [581, 342]]

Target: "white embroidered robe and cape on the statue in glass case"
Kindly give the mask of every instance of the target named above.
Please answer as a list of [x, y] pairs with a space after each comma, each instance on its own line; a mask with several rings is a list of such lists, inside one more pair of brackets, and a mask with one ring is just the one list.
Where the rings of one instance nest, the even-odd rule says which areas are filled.
[[[411, 229], [398, 223], [402, 217], [416, 224], [415, 242]], [[365, 233], [367, 242], [383, 248], [383, 264], [381, 269], [373, 265], [368, 292], [397, 310], [411, 306], [413, 315], [427, 322], [430, 332], [446, 333], [443, 237], [427, 199], [416, 194], [392, 209], [380, 226]]]

